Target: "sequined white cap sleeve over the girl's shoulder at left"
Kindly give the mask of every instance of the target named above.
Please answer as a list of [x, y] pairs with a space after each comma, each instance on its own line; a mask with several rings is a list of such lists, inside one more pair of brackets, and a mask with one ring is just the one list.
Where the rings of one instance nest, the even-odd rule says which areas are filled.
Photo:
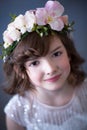
[[29, 110], [30, 105], [26, 97], [15, 95], [13, 96], [4, 108], [5, 114], [19, 125], [25, 126], [24, 113], [25, 109]]

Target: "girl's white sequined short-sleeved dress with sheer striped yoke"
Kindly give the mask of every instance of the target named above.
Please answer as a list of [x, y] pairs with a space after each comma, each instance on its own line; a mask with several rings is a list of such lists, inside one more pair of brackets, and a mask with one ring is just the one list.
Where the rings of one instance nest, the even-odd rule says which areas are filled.
[[4, 111], [26, 130], [87, 130], [87, 80], [64, 106], [48, 106], [35, 98], [29, 102], [27, 96], [15, 95]]

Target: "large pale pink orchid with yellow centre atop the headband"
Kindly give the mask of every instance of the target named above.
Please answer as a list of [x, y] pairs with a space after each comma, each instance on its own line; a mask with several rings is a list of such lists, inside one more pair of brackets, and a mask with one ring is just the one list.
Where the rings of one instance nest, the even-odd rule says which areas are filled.
[[51, 29], [61, 31], [64, 27], [64, 22], [60, 18], [63, 12], [64, 7], [58, 1], [49, 0], [45, 8], [37, 8], [36, 10], [37, 24], [49, 24]]

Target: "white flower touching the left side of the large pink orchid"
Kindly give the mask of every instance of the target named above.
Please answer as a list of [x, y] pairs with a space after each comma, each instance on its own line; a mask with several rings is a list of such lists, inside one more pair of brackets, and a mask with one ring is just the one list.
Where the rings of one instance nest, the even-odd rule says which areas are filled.
[[26, 28], [28, 32], [32, 32], [32, 28], [36, 23], [36, 17], [33, 11], [26, 11], [25, 13]]

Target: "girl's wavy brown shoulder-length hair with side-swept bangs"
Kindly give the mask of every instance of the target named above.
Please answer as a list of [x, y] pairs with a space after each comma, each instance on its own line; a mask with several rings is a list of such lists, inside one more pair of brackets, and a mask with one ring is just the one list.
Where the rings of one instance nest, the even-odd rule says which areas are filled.
[[[14, 51], [4, 63], [4, 72], [7, 77], [5, 91], [9, 94], [23, 94], [24, 91], [33, 89], [26, 73], [25, 62], [29, 59], [45, 56], [49, 51], [52, 37], [57, 36], [62, 41], [70, 58], [71, 73], [68, 77], [69, 84], [76, 86], [81, 84], [86, 76], [81, 69], [84, 59], [77, 52], [70, 35], [59, 32], [49, 33], [40, 37], [36, 32], [31, 32], [20, 41]], [[15, 67], [14, 67], [15, 66]], [[17, 72], [14, 68], [17, 68]]]

